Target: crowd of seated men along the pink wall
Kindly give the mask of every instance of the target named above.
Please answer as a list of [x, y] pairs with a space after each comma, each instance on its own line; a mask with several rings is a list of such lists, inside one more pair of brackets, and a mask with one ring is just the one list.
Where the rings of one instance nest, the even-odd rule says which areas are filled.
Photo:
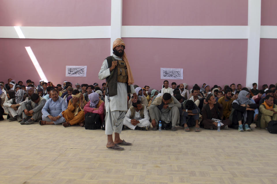
[[[0, 120], [7, 115], [9, 122], [40, 125], [62, 124], [85, 126], [85, 114], [99, 114], [105, 121], [106, 83], [100, 88], [93, 85], [73, 85], [68, 81], [53, 85], [52, 82], [40, 81], [35, 86], [31, 80], [22, 81], [8, 79], [8, 83], [0, 82]], [[161, 122], [164, 129], [176, 131], [176, 127], [195, 132], [200, 128], [227, 130], [228, 127], [238, 131], [251, 131], [255, 128], [267, 128], [269, 121], [277, 120], [276, 85], [263, 85], [263, 89], [242, 87], [241, 84], [225, 85], [223, 88], [214, 85], [195, 84], [188, 89], [186, 83], [177, 85], [164, 81], [162, 89], [154, 89], [145, 85], [134, 85], [138, 100], [133, 103], [132, 94], [126, 96], [128, 111], [126, 112], [123, 129], [152, 130], [158, 129]]]

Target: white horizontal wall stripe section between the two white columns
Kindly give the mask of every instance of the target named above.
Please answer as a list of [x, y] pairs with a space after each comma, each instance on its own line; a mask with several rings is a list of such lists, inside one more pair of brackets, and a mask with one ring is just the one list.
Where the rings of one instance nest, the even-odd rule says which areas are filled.
[[248, 39], [248, 26], [122, 26], [122, 37]]

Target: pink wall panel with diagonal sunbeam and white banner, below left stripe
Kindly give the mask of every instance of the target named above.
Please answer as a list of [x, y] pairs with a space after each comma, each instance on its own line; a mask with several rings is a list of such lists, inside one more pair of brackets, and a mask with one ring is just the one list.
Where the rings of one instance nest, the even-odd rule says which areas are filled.
[[[40, 76], [25, 49], [30, 46], [48, 81], [72, 83], [103, 83], [98, 72], [110, 55], [110, 39], [0, 39], [0, 81], [8, 78], [31, 79], [38, 85]], [[87, 66], [87, 77], [65, 77], [65, 65]], [[3, 69], [4, 68], [4, 69]]]

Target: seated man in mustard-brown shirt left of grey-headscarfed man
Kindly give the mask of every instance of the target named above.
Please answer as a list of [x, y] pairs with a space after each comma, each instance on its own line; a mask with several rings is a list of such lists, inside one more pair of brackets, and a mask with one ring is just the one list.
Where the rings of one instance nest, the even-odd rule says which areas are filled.
[[232, 91], [230, 89], [226, 89], [224, 96], [218, 99], [218, 103], [221, 104], [223, 108], [223, 119], [229, 119], [231, 114], [232, 103], [234, 101], [231, 97]]

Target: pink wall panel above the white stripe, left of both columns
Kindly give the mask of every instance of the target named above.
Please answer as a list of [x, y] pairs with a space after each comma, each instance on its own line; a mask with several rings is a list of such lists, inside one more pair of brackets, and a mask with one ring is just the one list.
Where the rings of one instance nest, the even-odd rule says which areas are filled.
[[0, 26], [109, 26], [111, 0], [0, 0]]

